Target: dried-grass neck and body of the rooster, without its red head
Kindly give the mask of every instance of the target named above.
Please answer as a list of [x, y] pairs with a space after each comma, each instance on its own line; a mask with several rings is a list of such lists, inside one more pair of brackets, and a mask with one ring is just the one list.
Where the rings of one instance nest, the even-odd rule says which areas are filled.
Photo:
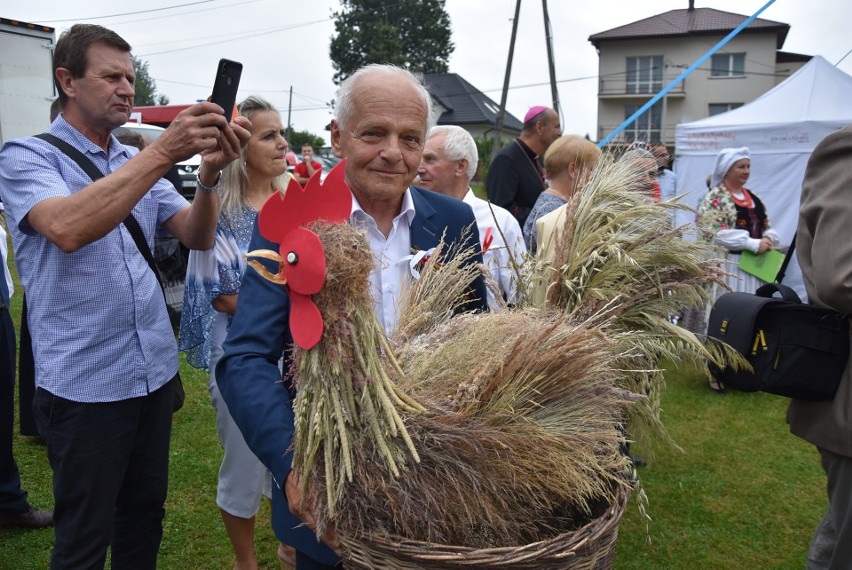
[[391, 533], [481, 548], [578, 528], [611, 504], [627, 484], [619, 418], [633, 398], [615, 387], [603, 328], [538, 311], [450, 319], [448, 295], [479, 269], [438, 248], [409, 291], [428, 318], [412, 305], [401, 327], [428, 332], [392, 349], [365, 236], [312, 229], [326, 328], [295, 351], [294, 468], [324, 497], [320, 528], [333, 521], [344, 544]]

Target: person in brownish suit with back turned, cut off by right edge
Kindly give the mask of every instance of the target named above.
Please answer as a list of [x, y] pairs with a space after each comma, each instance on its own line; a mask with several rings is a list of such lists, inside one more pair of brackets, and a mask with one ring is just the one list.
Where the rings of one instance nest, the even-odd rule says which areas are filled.
[[[808, 161], [796, 254], [809, 302], [847, 315], [852, 315], [850, 219], [852, 127], [846, 127], [819, 143]], [[817, 446], [828, 477], [828, 510], [811, 539], [807, 568], [852, 568], [852, 362], [833, 400], [793, 400], [787, 422], [793, 434]]]

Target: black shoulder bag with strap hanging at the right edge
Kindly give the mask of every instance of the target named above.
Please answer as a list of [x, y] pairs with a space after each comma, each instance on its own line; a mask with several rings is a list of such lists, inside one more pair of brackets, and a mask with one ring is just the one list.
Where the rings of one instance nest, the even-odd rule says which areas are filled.
[[[795, 238], [778, 281], [794, 247]], [[776, 292], [781, 298], [773, 297]], [[803, 304], [795, 291], [780, 283], [767, 283], [754, 295], [719, 297], [710, 312], [707, 335], [726, 342], [751, 364], [754, 372], [710, 367], [717, 380], [744, 392], [831, 400], [849, 359], [848, 316]]]

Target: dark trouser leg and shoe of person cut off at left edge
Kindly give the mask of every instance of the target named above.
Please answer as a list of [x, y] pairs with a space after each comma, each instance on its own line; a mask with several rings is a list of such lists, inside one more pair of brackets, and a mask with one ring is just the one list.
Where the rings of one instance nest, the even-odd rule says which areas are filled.
[[[0, 279], [4, 279], [2, 267]], [[18, 515], [30, 510], [27, 493], [21, 489], [18, 465], [12, 455], [14, 418], [15, 329], [0, 298], [0, 515]]]

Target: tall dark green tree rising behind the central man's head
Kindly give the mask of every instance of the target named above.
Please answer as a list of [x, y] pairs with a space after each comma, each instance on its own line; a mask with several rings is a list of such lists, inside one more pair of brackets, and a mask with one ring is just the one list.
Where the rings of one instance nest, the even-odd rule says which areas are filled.
[[330, 55], [334, 82], [369, 63], [421, 73], [447, 71], [453, 52], [445, 0], [341, 0]]

